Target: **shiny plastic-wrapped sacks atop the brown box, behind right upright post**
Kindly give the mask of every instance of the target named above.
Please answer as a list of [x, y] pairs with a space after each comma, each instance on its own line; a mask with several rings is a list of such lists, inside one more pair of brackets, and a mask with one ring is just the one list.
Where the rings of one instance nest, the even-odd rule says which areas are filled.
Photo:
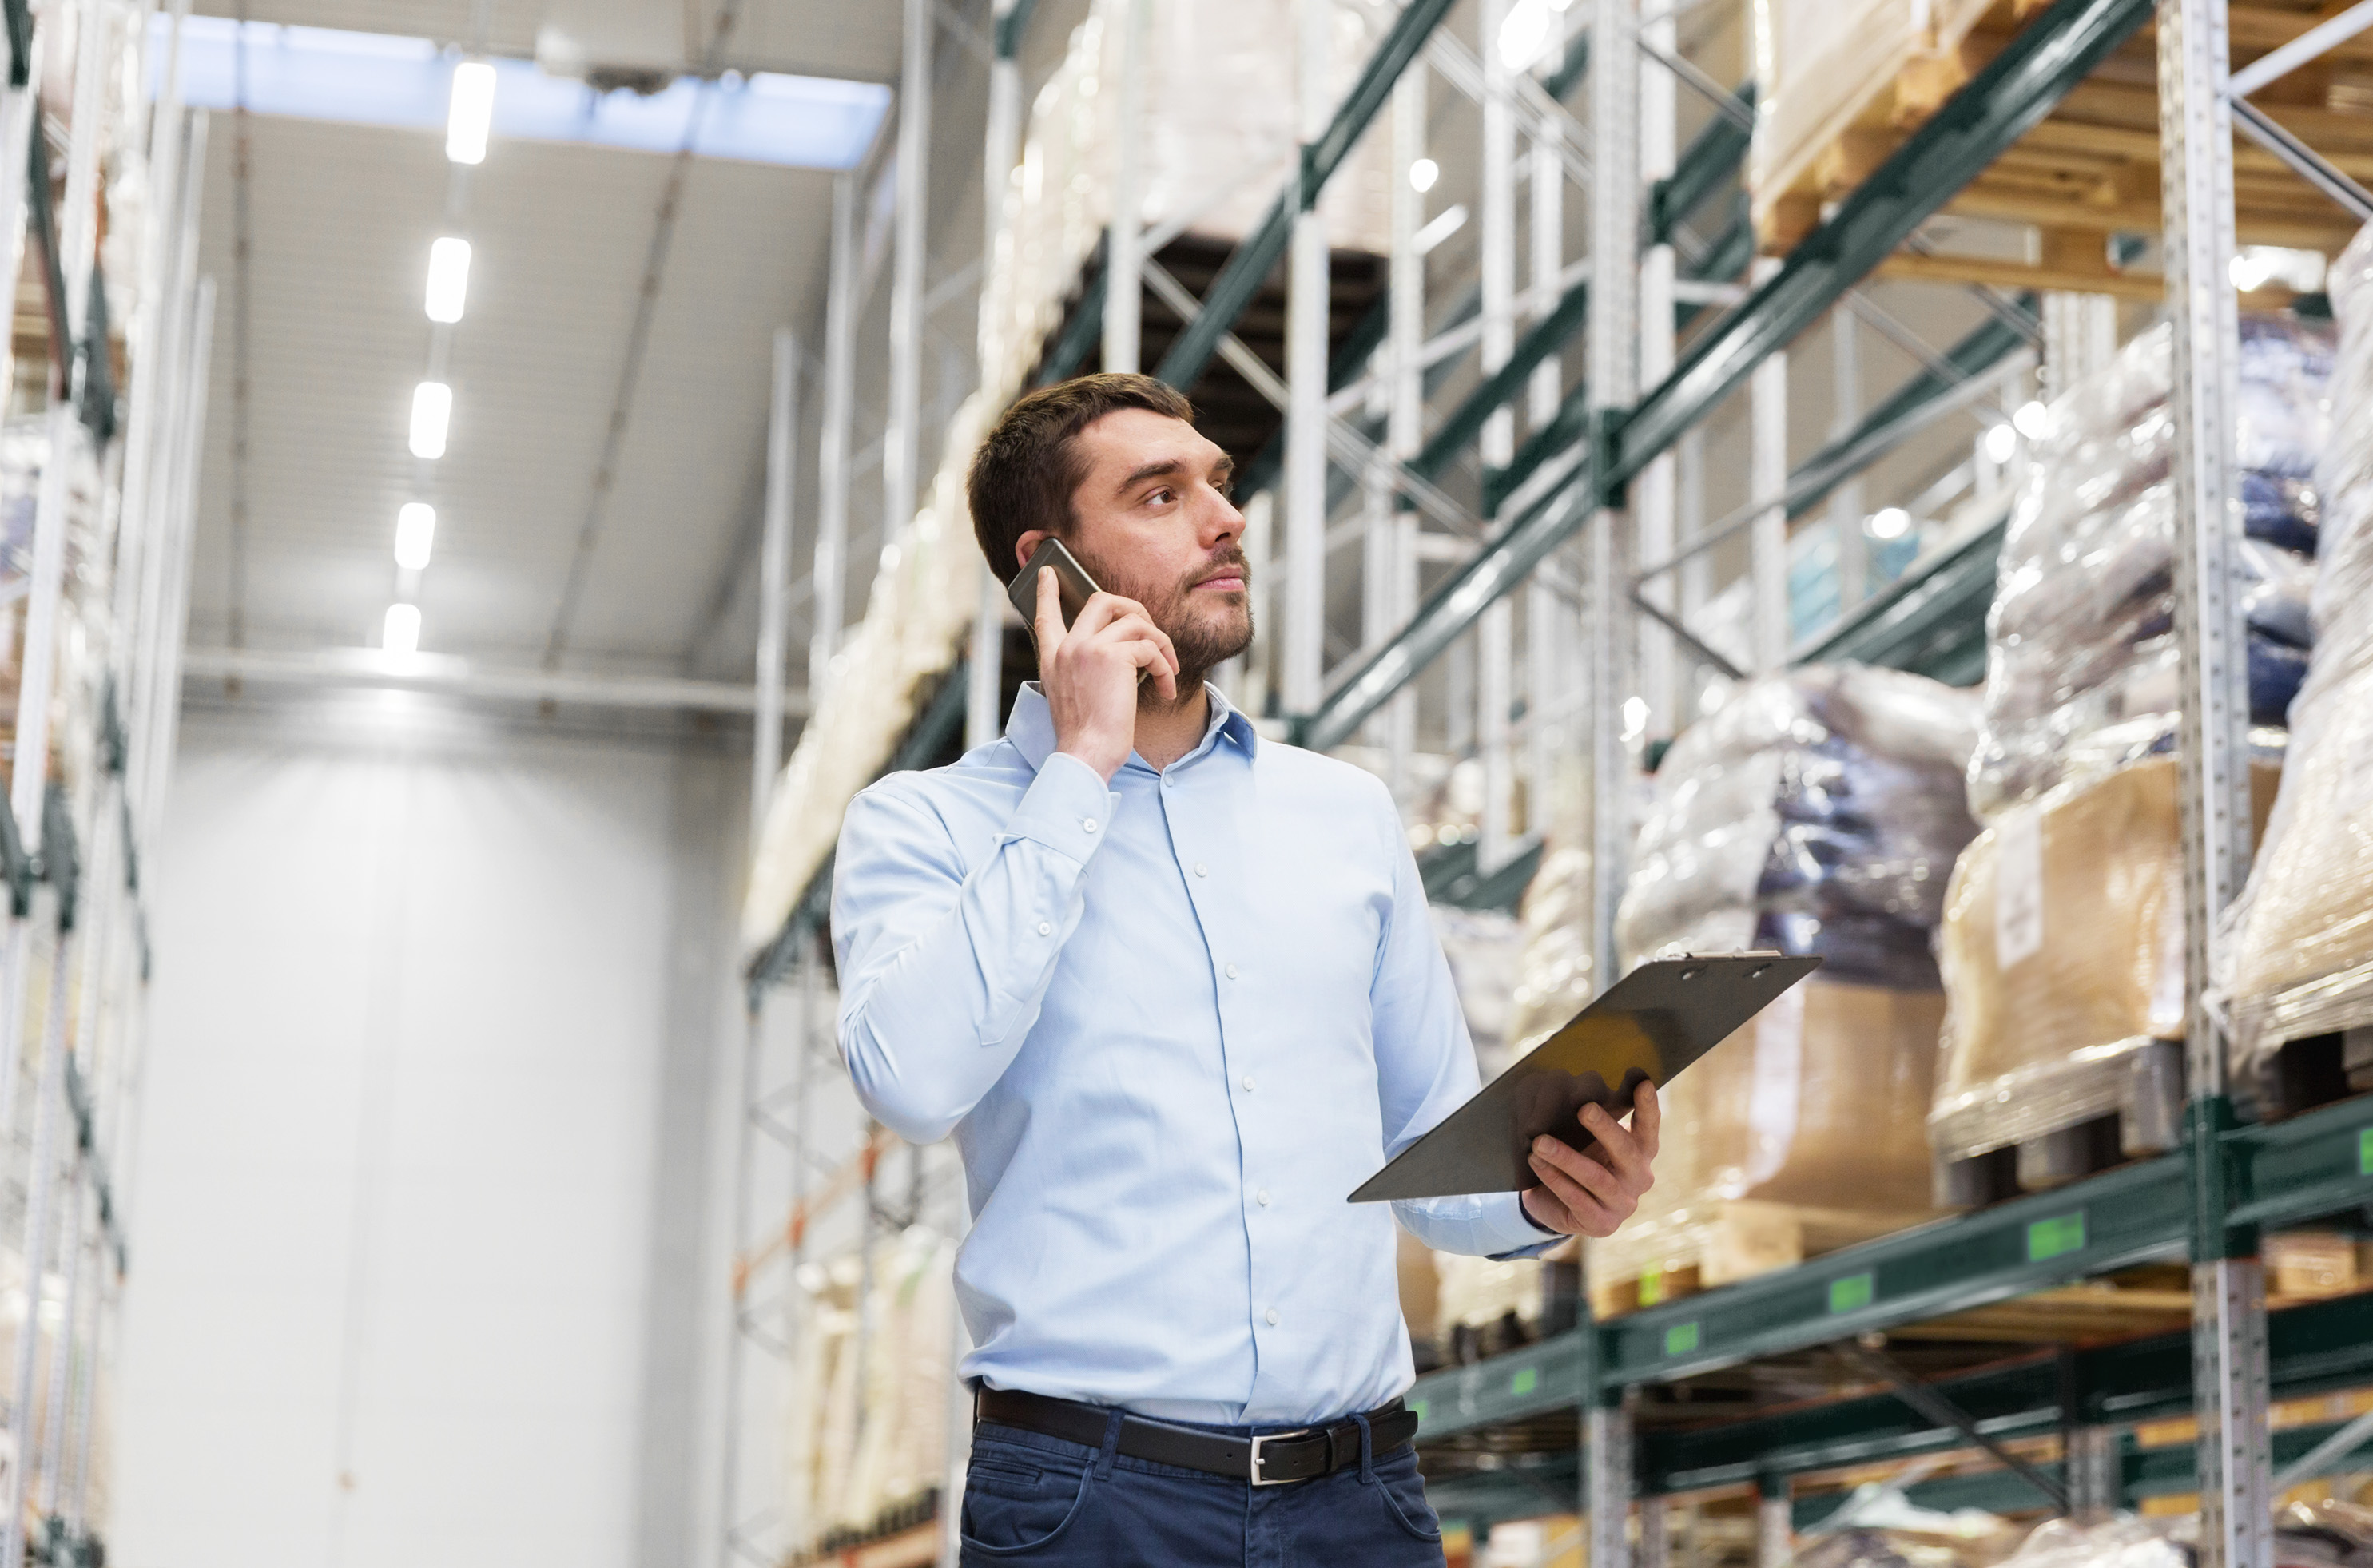
[[[2145, 332], [2065, 394], [2029, 458], [1986, 619], [1986, 733], [1970, 761], [1979, 816], [2174, 742], [2171, 342], [2167, 327]], [[2307, 676], [2330, 372], [2323, 327], [2242, 320], [2235, 460], [2250, 543], [2233, 591], [2259, 726], [2285, 721]]]

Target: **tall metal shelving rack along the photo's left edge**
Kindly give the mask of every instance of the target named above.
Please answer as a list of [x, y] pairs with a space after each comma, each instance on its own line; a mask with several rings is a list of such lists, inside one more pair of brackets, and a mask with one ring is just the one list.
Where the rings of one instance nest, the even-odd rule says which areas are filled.
[[[0, 935], [0, 1245], [19, 1324], [0, 1383], [7, 1454], [0, 1566], [100, 1561], [93, 1471], [102, 1371], [128, 1269], [121, 1179], [140, 1077], [149, 975], [140, 847], [154, 842], [180, 709], [197, 460], [204, 432], [214, 285], [197, 275], [206, 119], [178, 93], [187, 5], [78, 0], [38, 19], [5, 5], [0, 88], [0, 232], [40, 287], [38, 320], [12, 344], [43, 342], [47, 365], [9, 361], [12, 401], [45, 434], [21, 600], [14, 764], [0, 811], [9, 887]], [[157, 28], [152, 31], [152, 17]], [[71, 40], [71, 59], [50, 59]], [[131, 50], [135, 104], [109, 104]], [[161, 52], [161, 59], [154, 55]], [[71, 83], [43, 102], [40, 83]], [[154, 85], [154, 102], [145, 90]], [[100, 263], [102, 173], [145, 164], [133, 225], [135, 275]], [[12, 266], [12, 275], [17, 270]], [[128, 287], [126, 287], [128, 285]], [[119, 320], [109, 320], [109, 294]], [[121, 311], [131, 304], [131, 315]], [[119, 368], [121, 353], [121, 368]], [[126, 380], [119, 387], [119, 377]], [[38, 391], [28, 387], [38, 382]], [[76, 501], [69, 470], [97, 484]], [[62, 659], [69, 553], [97, 657]], [[64, 724], [52, 721], [52, 709]], [[47, 1324], [47, 1357], [43, 1328]]]

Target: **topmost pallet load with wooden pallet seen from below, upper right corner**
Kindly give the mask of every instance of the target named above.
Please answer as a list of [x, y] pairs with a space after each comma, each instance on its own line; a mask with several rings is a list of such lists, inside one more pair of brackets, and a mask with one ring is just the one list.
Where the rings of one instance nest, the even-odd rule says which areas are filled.
[[[1844, 199], [2010, 38], [2046, 0], [1758, 0], [1754, 7], [1756, 133], [1747, 187], [1756, 244], [1789, 251], [1827, 204]], [[2314, 5], [2273, 0], [2231, 9], [2242, 69], [2321, 21]], [[2373, 154], [2373, 107], [2349, 88], [2373, 59], [2354, 38], [2252, 95], [2278, 126], [2342, 161]], [[2048, 119], [1989, 164], [1946, 213], [2034, 225], [2031, 256], [1915, 254], [1879, 275], [1998, 282], [2164, 299], [2157, 273], [2126, 270], [2117, 235], [2159, 235], [2159, 97], [2152, 33], [2138, 28]], [[2349, 223], [2271, 152], [2233, 157], [2242, 244], [2335, 251]], [[2311, 285], [2309, 285], [2311, 287]]]

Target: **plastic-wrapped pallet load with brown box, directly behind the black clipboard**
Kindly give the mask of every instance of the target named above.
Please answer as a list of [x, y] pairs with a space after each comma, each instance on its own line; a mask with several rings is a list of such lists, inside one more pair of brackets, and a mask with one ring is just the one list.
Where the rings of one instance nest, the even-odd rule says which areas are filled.
[[1856, 664], [1758, 681], [1656, 773], [1623, 892], [1626, 963], [1782, 949], [1822, 970], [1666, 1091], [1659, 1179], [1590, 1243], [1592, 1312], [1784, 1269], [1932, 1215], [1929, 1094], [1943, 999], [1929, 932], [1977, 830], [1977, 702]]

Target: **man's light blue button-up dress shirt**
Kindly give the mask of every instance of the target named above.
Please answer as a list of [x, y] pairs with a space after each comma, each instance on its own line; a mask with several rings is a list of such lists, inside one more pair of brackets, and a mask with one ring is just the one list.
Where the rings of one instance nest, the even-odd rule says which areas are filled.
[[1386, 788], [1210, 707], [1106, 788], [1025, 688], [1004, 740], [859, 795], [840, 1048], [885, 1127], [956, 1134], [963, 1376], [1319, 1421], [1412, 1381], [1393, 1212], [1448, 1253], [1554, 1236], [1514, 1193], [1345, 1203], [1474, 1096], [1474, 1046]]

